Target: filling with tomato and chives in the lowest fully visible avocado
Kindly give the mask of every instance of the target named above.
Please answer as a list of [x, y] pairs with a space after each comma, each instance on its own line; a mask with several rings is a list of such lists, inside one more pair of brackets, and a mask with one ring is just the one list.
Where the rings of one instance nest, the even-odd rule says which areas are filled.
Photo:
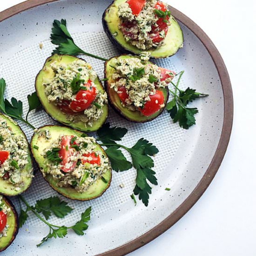
[[[70, 142], [63, 144], [69, 139]], [[43, 175], [52, 175], [59, 187], [72, 187], [80, 193], [85, 192], [98, 179], [104, 180], [102, 175], [110, 170], [108, 158], [95, 143], [93, 137], [60, 135], [42, 153], [47, 159]], [[58, 158], [59, 161], [56, 160]]]

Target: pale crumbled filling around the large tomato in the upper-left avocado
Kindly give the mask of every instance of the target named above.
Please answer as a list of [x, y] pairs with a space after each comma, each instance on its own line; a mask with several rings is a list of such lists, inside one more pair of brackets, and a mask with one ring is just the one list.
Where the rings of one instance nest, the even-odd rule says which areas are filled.
[[43, 86], [45, 87], [48, 101], [56, 106], [61, 104], [62, 101], [71, 102], [75, 100], [76, 93], [73, 93], [71, 83], [77, 75], [79, 75], [79, 79], [84, 80], [84, 83], [88, 80], [92, 81], [91, 86], [96, 91], [94, 104], [85, 109], [82, 115], [81, 113], [79, 115], [65, 113], [69, 121], [82, 121], [85, 127], [92, 126], [93, 122], [98, 120], [103, 114], [103, 106], [108, 103], [106, 92], [102, 93], [98, 90], [93, 82], [97, 78], [96, 72], [86, 61], [80, 59], [68, 65], [54, 61], [50, 67], [54, 71], [54, 77], [51, 81], [45, 81]]

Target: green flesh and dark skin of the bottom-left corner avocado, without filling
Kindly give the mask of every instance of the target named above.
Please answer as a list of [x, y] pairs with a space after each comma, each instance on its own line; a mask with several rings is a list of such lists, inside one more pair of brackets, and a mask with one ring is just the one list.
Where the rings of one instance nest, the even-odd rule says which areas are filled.
[[0, 238], [0, 252], [7, 249], [7, 247], [13, 243], [13, 240], [19, 231], [19, 218], [13, 203], [4, 196], [3, 201], [5, 202], [5, 205], [11, 209], [11, 211], [10, 216], [7, 215], [7, 224], [9, 225], [7, 236], [2, 236]]

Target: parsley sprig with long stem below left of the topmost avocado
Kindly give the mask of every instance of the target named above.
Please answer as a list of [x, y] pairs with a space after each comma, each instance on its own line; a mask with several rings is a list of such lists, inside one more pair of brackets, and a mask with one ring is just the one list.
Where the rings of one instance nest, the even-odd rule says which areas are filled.
[[53, 54], [68, 54], [77, 56], [79, 54], [84, 54], [101, 61], [107, 61], [107, 59], [96, 56], [94, 54], [90, 54], [82, 50], [75, 43], [71, 35], [67, 30], [67, 21], [64, 19], [54, 20], [52, 34], [51, 34], [51, 42], [58, 47], [53, 51]]

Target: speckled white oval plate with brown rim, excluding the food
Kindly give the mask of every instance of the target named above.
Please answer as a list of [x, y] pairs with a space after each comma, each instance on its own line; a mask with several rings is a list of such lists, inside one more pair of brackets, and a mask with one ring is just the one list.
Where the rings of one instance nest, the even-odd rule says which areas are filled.
[[[54, 19], [67, 19], [68, 29], [81, 48], [110, 58], [120, 54], [103, 32], [101, 15], [110, 4], [88, 0], [29, 0], [0, 13], [0, 76], [7, 81], [7, 97], [26, 102], [34, 91], [34, 79], [54, 46], [49, 34]], [[67, 238], [52, 240], [40, 249], [36, 244], [47, 234], [47, 228], [31, 216], [20, 229], [14, 243], [1, 255], [64, 256], [124, 255], [148, 243], [177, 222], [199, 199], [219, 168], [229, 142], [233, 120], [233, 98], [229, 75], [220, 54], [208, 36], [188, 17], [172, 8], [184, 34], [184, 47], [174, 56], [155, 63], [176, 72], [185, 70], [181, 88], [196, 88], [209, 94], [193, 106], [199, 109], [196, 126], [185, 131], [173, 124], [168, 113], [152, 122], [130, 123], [114, 111], [108, 121], [128, 128], [124, 143], [132, 146], [141, 137], [160, 150], [155, 156], [158, 186], [154, 186], [146, 208], [134, 206], [130, 199], [135, 185], [135, 170], [113, 173], [108, 191], [89, 202], [65, 199], [74, 208], [65, 220], [50, 221], [71, 224], [81, 212], [92, 206], [92, 218], [86, 236], [69, 232]], [[40, 49], [39, 43], [43, 47]], [[83, 56], [103, 78], [104, 62]], [[24, 112], [27, 111], [24, 104]], [[54, 124], [43, 111], [31, 114], [35, 127]], [[21, 124], [27, 137], [33, 131]], [[124, 188], [120, 188], [120, 184]], [[166, 191], [165, 188], [171, 188]], [[33, 204], [37, 199], [56, 195], [37, 172], [25, 193]], [[14, 204], [17, 202], [14, 199]]]

